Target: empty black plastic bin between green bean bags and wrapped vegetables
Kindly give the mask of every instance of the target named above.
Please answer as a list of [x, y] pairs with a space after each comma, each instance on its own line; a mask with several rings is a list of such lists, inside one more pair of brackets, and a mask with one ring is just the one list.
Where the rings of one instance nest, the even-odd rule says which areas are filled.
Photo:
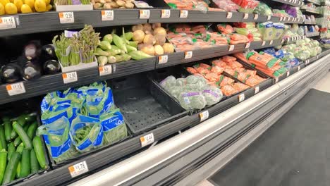
[[188, 115], [143, 73], [118, 77], [110, 80], [109, 85], [116, 106], [135, 135]]

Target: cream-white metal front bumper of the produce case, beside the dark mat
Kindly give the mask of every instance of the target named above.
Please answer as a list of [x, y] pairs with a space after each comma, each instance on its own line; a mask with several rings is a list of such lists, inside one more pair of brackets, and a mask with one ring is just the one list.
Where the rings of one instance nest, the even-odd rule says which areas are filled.
[[244, 149], [238, 140], [259, 125], [269, 128], [280, 118], [276, 111], [284, 113], [284, 105], [298, 101], [328, 70], [323, 58], [221, 115], [72, 185], [196, 185]]

